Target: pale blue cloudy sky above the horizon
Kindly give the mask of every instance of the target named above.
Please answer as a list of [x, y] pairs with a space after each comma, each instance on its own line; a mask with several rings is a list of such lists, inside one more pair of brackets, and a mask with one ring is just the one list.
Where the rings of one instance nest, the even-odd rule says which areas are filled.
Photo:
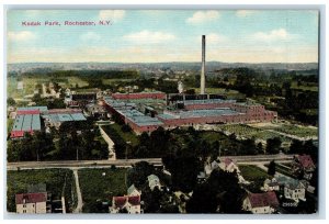
[[[64, 21], [111, 20], [111, 26]], [[22, 26], [23, 21], [60, 26]], [[318, 61], [318, 12], [305, 10], [8, 11], [9, 63]]]

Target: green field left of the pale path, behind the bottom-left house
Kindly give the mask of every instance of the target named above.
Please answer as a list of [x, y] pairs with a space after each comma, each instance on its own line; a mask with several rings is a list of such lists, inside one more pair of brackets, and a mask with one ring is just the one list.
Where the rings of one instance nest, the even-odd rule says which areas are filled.
[[[68, 210], [76, 201], [75, 181], [69, 169], [20, 170], [7, 172], [7, 210], [15, 212], [15, 194], [26, 193], [30, 184], [45, 183], [52, 199], [60, 199], [64, 194]], [[65, 187], [65, 188], [64, 188]]]

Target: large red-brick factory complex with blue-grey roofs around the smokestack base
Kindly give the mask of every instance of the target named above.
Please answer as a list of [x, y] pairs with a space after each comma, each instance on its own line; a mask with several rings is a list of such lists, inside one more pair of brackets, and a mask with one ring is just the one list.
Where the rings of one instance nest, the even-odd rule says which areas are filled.
[[104, 98], [103, 105], [137, 134], [152, 132], [159, 126], [174, 128], [196, 124], [271, 122], [277, 117], [276, 112], [268, 111], [261, 104], [224, 99], [177, 101], [173, 107], [167, 105], [162, 111], [148, 105], [147, 110], [155, 111], [148, 114], [146, 110], [139, 110], [139, 102], [134, 102], [135, 99], [163, 99], [166, 103], [164, 93], [140, 92], [133, 97], [132, 93], [115, 93], [114, 97]]

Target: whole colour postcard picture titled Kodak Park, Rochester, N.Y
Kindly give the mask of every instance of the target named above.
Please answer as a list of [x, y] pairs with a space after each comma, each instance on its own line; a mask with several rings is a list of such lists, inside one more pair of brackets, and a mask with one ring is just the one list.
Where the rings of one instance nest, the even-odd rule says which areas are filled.
[[5, 35], [8, 213], [318, 212], [318, 10], [10, 9]]

